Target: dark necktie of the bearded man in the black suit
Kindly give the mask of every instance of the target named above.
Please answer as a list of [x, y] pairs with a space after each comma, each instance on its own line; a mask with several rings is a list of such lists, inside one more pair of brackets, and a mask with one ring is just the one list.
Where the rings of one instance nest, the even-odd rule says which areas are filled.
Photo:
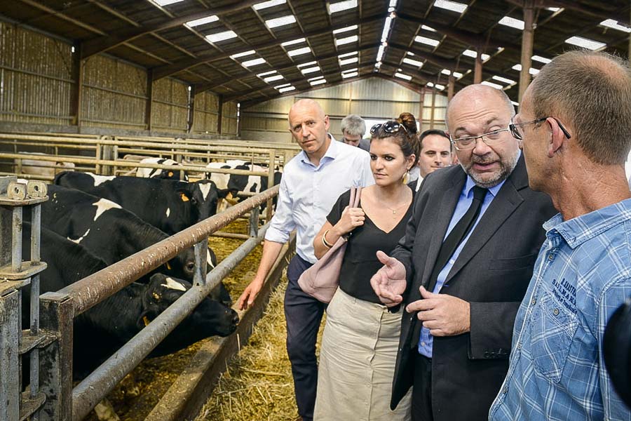
[[[449, 258], [452, 257], [461, 241], [466, 238], [467, 234], [471, 231], [471, 228], [473, 228], [477, 215], [480, 215], [480, 209], [482, 208], [482, 202], [484, 202], [484, 196], [487, 195], [488, 191], [488, 189], [484, 189], [482, 187], [473, 187], [473, 202], [471, 202], [471, 205], [467, 209], [466, 213], [462, 215], [462, 218], [460, 218], [460, 220], [456, 223], [452, 231], [449, 232], [445, 241], [442, 242], [442, 246], [440, 246], [440, 251], [438, 252], [434, 269], [430, 275], [428, 285], [425, 288], [430, 293], [433, 292], [436, 286], [438, 274], [440, 274], [442, 268], [445, 267]], [[414, 348], [416, 348], [419, 344], [419, 336], [421, 332], [421, 323], [418, 323], [418, 319], [416, 319], [417, 314], [418, 312], [414, 314], [414, 321], [416, 323], [414, 324], [414, 329], [412, 329], [411, 332], [412, 341], [410, 342], [410, 346]]]

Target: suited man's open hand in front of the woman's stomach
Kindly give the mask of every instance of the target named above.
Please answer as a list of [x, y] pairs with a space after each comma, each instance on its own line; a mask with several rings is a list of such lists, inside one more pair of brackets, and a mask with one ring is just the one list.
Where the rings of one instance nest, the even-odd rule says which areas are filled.
[[403, 301], [405, 292], [405, 266], [395, 258], [389, 257], [379, 250], [376, 253], [379, 262], [384, 264], [370, 279], [370, 286], [374, 289], [379, 300], [388, 307], [394, 307]]

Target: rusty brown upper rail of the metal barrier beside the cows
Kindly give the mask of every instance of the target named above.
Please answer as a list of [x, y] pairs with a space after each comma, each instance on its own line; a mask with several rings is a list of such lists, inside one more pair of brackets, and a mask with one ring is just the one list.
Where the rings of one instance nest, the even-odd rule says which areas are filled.
[[[59, 293], [68, 294], [74, 300], [75, 316], [125, 288], [130, 283], [149, 273], [163, 262], [174, 258], [177, 253], [198, 243], [206, 236], [219, 231], [248, 210], [260, 206], [264, 201], [278, 194], [279, 186], [267, 189], [261, 194], [237, 203], [228, 210], [198, 222], [177, 234], [164, 239], [149, 248], [114, 263], [105, 269], [73, 283]], [[215, 272], [215, 271], [213, 271]]]

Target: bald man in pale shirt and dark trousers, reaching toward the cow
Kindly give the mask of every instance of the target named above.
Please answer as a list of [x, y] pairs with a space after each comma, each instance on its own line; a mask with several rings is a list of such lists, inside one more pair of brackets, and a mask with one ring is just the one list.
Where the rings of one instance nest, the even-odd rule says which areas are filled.
[[302, 420], [313, 419], [318, 363], [315, 342], [325, 305], [298, 286], [298, 278], [317, 260], [313, 239], [337, 198], [351, 187], [374, 183], [370, 156], [358, 147], [327, 135], [329, 117], [318, 102], [298, 100], [289, 113], [290, 132], [302, 152], [285, 164], [278, 204], [265, 234], [257, 274], [240, 296], [238, 306], [252, 305], [290, 233], [297, 229], [296, 255], [287, 268], [285, 320], [287, 354], [292, 363], [294, 392]]

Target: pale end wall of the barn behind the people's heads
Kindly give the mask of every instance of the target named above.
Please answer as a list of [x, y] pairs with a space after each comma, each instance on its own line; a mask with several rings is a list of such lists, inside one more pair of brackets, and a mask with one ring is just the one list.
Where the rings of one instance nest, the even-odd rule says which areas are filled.
[[[287, 131], [287, 112], [292, 104], [301, 98], [313, 98], [320, 102], [330, 117], [330, 132], [341, 138], [341, 119], [348, 114], [359, 114], [364, 119], [383, 121], [393, 119], [402, 112], [411, 112], [420, 120], [423, 114], [423, 130], [429, 128], [424, 115], [430, 107], [425, 95], [421, 104], [421, 94], [405, 88], [393, 81], [379, 78], [362, 79], [338, 86], [314, 89], [296, 95], [276, 98], [241, 110], [241, 137], [249, 140], [292, 142]], [[435, 104], [447, 102], [445, 95], [436, 95]], [[444, 127], [445, 112], [435, 109], [434, 127]], [[366, 134], [367, 135], [367, 134]]]

